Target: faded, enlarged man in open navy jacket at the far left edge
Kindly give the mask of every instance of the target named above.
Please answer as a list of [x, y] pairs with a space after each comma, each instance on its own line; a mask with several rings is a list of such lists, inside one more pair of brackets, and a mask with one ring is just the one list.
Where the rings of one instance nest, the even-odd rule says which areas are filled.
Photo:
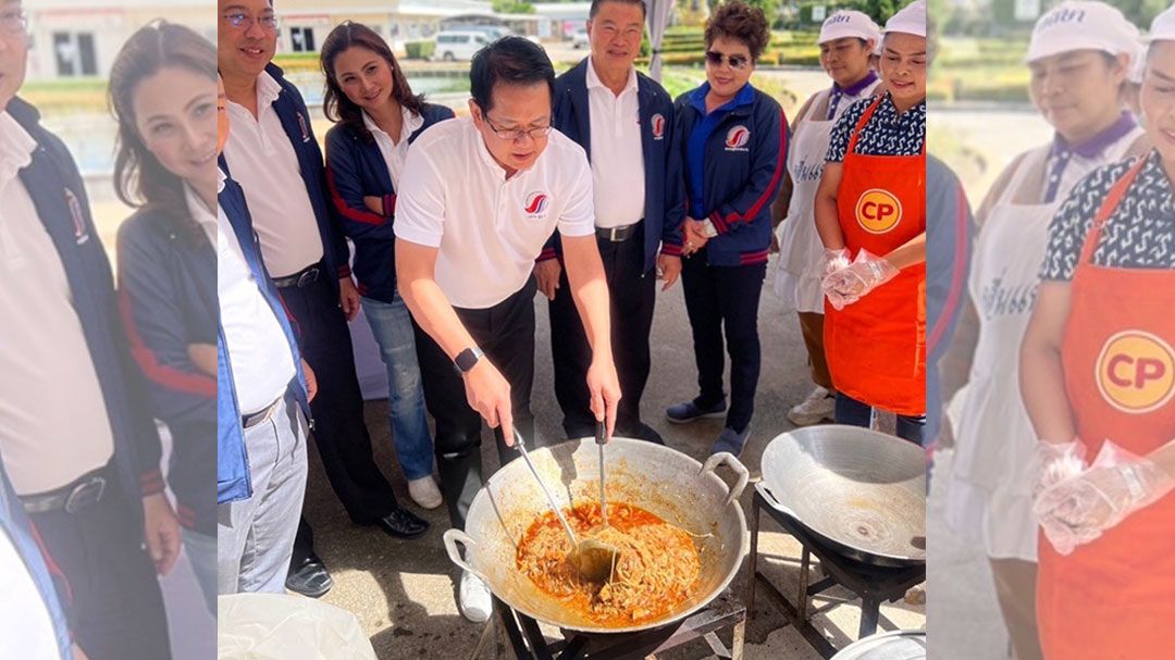
[[174, 558], [179, 527], [163, 494], [159, 435], [81, 175], [36, 109], [15, 96], [25, 25], [19, 2], [0, 1], [0, 454], [72, 586], [62, 600], [83, 651], [166, 659], [152, 555], [161, 565]]

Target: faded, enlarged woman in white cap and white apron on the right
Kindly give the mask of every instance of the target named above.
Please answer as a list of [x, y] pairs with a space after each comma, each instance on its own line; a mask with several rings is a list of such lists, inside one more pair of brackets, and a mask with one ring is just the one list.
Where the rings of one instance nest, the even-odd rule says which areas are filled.
[[[1069, 14], [1075, 20], [1058, 20]], [[1055, 135], [1018, 156], [980, 206], [973, 304], [948, 361], [951, 379], [967, 385], [954, 427], [947, 521], [986, 552], [1018, 660], [1041, 656], [1032, 514], [1036, 435], [1018, 388], [1019, 346], [1040, 284], [1049, 220], [1090, 171], [1148, 149], [1143, 130], [1119, 102], [1136, 55], [1134, 32], [1119, 9], [1102, 2], [1067, 2], [1036, 21], [1027, 55], [1029, 92]]]

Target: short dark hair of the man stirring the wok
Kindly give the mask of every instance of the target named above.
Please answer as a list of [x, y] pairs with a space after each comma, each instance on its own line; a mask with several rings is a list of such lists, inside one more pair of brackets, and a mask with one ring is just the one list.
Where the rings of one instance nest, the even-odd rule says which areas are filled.
[[503, 36], [474, 55], [469, 68], [469, 92], [483, 113], [494, 107], [494, 87], [546, 83], [555, 102], [555, 67], [546, 50], [522, 36]]

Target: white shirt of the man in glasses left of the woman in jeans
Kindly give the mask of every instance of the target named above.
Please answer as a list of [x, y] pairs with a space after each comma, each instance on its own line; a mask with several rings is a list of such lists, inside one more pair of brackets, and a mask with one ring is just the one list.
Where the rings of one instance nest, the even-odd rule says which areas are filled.
[[256, 119], [244, 106], [229, 101], [231, 130], [224, 144], [224, 159], [244, 190], [261, 254], [273, 277], [294, 275], [318, 263], [323, 254], [297, 153], [274, 109], [281, 93], [274, 76], [262, 73], [257, 76]]

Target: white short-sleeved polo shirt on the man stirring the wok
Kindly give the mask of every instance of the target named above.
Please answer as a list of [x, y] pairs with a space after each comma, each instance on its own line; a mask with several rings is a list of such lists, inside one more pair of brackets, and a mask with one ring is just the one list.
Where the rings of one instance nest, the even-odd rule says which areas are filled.
[[409, 150], [395, 229], [438, 249], [436, 282], [454, 307], [485, 309], [523, 288], [556, 228], [589, 236], [592, 217], [582, 147], [552, 130], [535, 164], [508, 180], [464, 117], [437, 123]]

